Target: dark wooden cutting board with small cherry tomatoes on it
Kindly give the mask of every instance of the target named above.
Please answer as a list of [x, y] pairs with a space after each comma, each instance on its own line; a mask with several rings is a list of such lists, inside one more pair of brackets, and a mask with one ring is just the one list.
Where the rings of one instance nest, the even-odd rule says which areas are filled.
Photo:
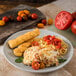
[[9, 16], [9, 15], [13, 15], [13, 17], [16, 19], [17, 12], [24, 9], [29, 10], [31, 13], [37, 13], [38, 19], [36, 20], [28, 19], [26, 22], [17, 22], [17, 21], [8, 22], [5, 26], [0, 27], [0, 44], [2, 44], [13, 33], [25, 29], [27, 26], [31, 27], [32, 25], [39, 22], [41, 19], [45, 18], [45, 16], [38, 9], [28, 5], [19, 5], [16, 8], [13, 8], [3, 14], [0, 14], [0, 19], [2, 19], [3, 16]]

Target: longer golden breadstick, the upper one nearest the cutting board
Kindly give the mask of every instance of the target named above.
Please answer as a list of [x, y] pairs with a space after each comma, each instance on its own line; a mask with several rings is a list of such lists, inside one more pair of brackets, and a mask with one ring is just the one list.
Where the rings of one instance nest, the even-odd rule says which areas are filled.
[[27, 33], [17, 37], [16, 39], [9, 40], [8, 45], [10, 46], [10, 48], [15, 48], [18, 45], [20, 45], [21, 43], [23, 43], [25, 41], [28, 41], [28, 40], [30, 40], [32, 38], [35, 38], [39, 34], [40, 34], [40, 31], [39, 31], [38, 28], [36, 28], [33, 31], [27, 32]]

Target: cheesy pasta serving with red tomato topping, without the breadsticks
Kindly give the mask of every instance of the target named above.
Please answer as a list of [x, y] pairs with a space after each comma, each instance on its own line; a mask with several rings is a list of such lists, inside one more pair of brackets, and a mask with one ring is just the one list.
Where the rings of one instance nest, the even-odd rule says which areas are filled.
[[39, 41], [33, 41], [25, 50], [23, 63], [32, 66], [35, 70], [57, 66], [60, 58], [67, 53], [67, 48], [67, 44], [62, 39], [51, 35], [44, 36]]

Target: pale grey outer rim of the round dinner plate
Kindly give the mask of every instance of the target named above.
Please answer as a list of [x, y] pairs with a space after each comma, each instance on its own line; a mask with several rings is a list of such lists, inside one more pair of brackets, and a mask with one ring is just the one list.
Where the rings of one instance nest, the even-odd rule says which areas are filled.
[[[33, 29], [27, 29], [27, 30], [18, 31], [18, 32], [12, 34], [11, 36], [16, 35], [17, 33], [20, 33], [20, 32], [23, 32], [23, 31], [31, 31], [31, 30], [33, 30]], [[58, 34], [58, 33], [56, 33], [56, 32], [53, 32], [53, 31], [50, 31], [50, 30], [47, 30], [47, 29], [40, 29], [40, 30], [49, 31], [49, 32], [55, 33], [56, 35], [60, 35], [60, 36], [64, 37], [64, 36], [61, 35], [61, 34]], [[71, 47], [71, 56], [68, 58], [67, 61], [65, 61], [64, 63], [62, 63], [62, 65], [57, 66], [57, 67], [56, 67], [55, 69], [53, 69], [53, 70], [50, 70], [50, 69], [49, 69], [49, 70], [44, 70], [44, 71], [42, 71], [42, 70], [41, 70], [41, 71], [37, 71], [37, 70], [22, 69], [22, 68], [16, 66], [15, 64], [13, 64], [11, 61], [9, 61], [9, 59], [6, 57], [6, 55], [5, 55], [5, 53], [4, 53], [4, 47], [5, 47], [5, 45], [6, 45], [6, 42], [9, 40], [9, 38], [11, 38], [11, 36], [9, 36], [9, 37], [7, 38], [7, 40], [4, 42], [4, 45], [3, 45], [3, 54], [4, 54], [4, 57], [5, 57], [5, 59], [6, 59], [12, 66], [14, 66], [14, 67], [16, 67], [16, 68], [18, 68], [18, 69], [20, 69], [20, 70], [23, 70], [23, 71], [33, 72], [33, 73], [47, 73], [47, 72], [56, 71], [56, 70], [64, 67], [66, 64], [68, 64], [68, 63], [70, 62], [70, 60], [72, 59], [72, 56], [73, 56], [73, 53], [74, 53], [74, 49], [73, 49], [72, 43], [69, 41], [69, 39], [67, 39], [66, 37], [64, 37], [65, 39], [67, 39], [67, 40], [69, 41], [69, 44], [70, 44], [70, 47]]]

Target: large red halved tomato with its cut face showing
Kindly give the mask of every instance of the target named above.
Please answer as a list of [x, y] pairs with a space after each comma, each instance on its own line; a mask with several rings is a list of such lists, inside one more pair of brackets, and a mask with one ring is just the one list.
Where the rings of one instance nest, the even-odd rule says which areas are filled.
[[70, 27], [73, 17], [67, 11], [61, 11], [55, 18], [55, 26], [60, 30], [66, 30]]

